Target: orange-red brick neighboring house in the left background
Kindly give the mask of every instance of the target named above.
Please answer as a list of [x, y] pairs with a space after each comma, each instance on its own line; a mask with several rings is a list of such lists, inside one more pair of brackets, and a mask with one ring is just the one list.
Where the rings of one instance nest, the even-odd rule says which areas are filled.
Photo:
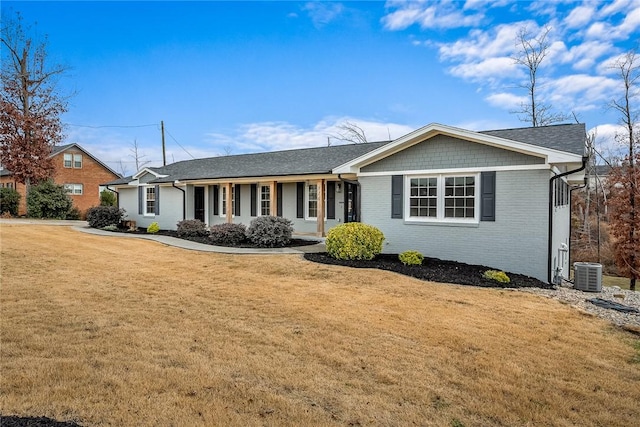
[[[54, 165], [53, 181], [67, 188], [73, 205], [80, 211], [83, 218], [87, 209], [100, 204], [100, 184], [120, 178], [118, 173], [78, 144], [54, 147], [51, 158]], [[0, 186], [15, 188], [20, 193], [18, 214], [26, 215], [25, 185], [16, 182], [10, 171], [2, 169]]]

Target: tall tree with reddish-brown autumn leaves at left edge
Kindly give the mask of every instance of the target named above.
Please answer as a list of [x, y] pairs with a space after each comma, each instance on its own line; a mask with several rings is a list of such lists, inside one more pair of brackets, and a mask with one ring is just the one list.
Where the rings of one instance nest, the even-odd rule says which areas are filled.
[[53, 171], [50, 154], [63, 139], [60, 116], [67, 111], [56, 84], [67, 68], [49, 66], [46, 38], [29, 36], [19, 14], [4, 15], [0, 161], [16, 181], [29, 185], [46, 180]]

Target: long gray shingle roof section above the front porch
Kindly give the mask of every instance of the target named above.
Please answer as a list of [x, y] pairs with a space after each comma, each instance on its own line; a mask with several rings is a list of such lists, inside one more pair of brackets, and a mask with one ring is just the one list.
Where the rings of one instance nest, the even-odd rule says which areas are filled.
[[[334, 145], [330, 147], [267, 153], [239, 154], [185, 160], [158, 168], [149, 168], [160, 175], [151, 182], [173, 182], [196, 179], [239, 178], [325, 174], [341, 164], [375, 150], [388, 142]], [[112, 182], [110, 184], [116, 184]]]

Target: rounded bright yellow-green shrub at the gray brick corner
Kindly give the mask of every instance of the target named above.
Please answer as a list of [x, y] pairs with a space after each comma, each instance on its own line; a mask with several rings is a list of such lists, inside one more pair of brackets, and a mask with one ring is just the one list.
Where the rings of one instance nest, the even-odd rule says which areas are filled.
[[349, 222], [333, 227], [327, 234], [327, 253], [336, 259], [373, 259], [382, 252], [384, 234], [376, 227]]

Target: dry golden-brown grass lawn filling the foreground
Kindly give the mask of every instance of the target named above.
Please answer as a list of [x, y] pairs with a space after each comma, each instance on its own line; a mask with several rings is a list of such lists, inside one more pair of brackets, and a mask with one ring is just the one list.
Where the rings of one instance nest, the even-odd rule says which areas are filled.
[[87, 426], [629, 426], [638, 339], [534, 295], [2, 225], [0, 412]]

